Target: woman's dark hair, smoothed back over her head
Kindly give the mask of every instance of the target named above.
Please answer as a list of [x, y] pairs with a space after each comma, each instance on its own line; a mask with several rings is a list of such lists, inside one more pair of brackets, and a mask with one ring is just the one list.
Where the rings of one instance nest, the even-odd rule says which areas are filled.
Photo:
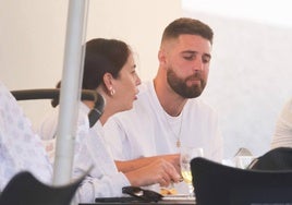
[[119, 77], [131, 52], [131, 48], [121, 40], [95, 38], [87, 41], [82, 88], [96, 89], [104, 83], [106, 73]]

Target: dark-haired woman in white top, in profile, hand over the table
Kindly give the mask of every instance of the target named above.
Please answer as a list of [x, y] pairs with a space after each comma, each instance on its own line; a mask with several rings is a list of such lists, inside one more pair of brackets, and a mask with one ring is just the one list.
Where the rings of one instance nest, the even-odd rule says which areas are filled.
[[88, 120], [84, 119], [94, 102], [81, 102], [73, 176], [77, 178], [90, 166], [94, 168], [78, 191], [80, 202], [121, 196], [126, 185], [168, 185], [180, 180], [178, 167], [173, 166], [179, 165], [179, 155], [114, 161], [105, 143], [102, 125], [108, 118], [131, 109], [137, 98], [141, 80], [135, 67], [131, 48], [123, 41], [97, 38], [86, 44], [82, 88], [101, 94], [106, 107], [98, 122], [89, 129]]

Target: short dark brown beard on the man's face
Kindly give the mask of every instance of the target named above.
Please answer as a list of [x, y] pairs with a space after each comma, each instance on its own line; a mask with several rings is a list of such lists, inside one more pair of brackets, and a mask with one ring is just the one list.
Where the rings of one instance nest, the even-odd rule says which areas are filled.
[[[197, 80], [200, 84], [194, 84], [187, 86], [186, 82], [188, 80]], [[200, 73], [195, 73], [192, 76], [186, 77], [185, 80], [180, 79], [177, 73], [173, 72], [171, 68], [167, 71], [167, 81], [170, 87], [180, 96], [184, 98], [195, 98], [198, 97], [206, 86], [206, 81], [202, 79]]]

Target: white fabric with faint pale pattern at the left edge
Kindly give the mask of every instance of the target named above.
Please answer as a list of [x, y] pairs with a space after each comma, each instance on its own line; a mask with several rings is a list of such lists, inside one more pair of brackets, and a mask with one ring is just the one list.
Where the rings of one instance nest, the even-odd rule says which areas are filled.
[[52, 167], [15, 98], [0, 82], [0, 190], [19, 171], [27, 170], [50, 182]]

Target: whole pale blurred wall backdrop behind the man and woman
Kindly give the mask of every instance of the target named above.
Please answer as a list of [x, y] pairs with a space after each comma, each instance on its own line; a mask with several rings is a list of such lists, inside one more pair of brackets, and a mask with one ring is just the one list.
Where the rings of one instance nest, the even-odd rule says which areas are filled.
[[[90, 0], [85, 39], [118, 38], [136, 52], [143, 81], [157, 71], [163, 28], [190, 16], [215, 32], [203, 98], [220, 117], [224, 157], [269, 149], [292, 97], [292, 14], [288, 0]], [[10, 89], [52, 88], [62, 77], [68, 0], [0, 0], [0, 80]], [[36, 126], [49, 100], [20, 101]]]

